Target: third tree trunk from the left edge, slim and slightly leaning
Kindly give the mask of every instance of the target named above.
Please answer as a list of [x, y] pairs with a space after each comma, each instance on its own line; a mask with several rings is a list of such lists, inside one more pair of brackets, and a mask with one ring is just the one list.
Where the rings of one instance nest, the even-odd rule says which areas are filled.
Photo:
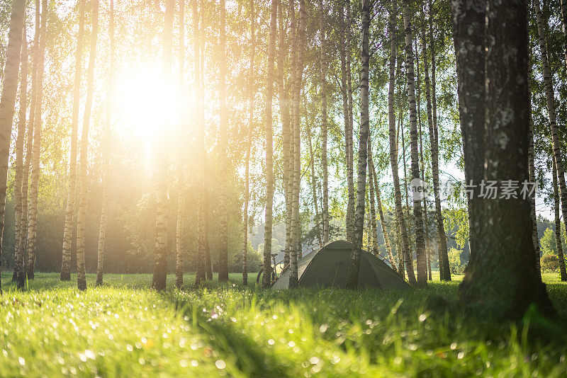
[[26, 161], [22, 170], [22, 212], [20, 222], [20, 241], [18, 243], [18, 256], [21, 258], [21, 270], [18, 270], [18, 288], [26, 283], [26, 244], [28, 241], [28, 183], [30, 178], [30, 165], [33, 149], [33, 125], [35, 124], [35, 103], [38, 93], [38, 54], [40, 38], [40, 2], [35, 1], [35, 35], [33, 38], [33, 64], [31, 73], [31, 101], [28, 115], [28, 130], [26, 132]]

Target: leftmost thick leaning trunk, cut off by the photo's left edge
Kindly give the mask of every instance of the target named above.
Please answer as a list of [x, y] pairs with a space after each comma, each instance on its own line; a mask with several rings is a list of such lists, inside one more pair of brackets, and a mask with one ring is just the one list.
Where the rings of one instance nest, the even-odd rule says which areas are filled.
[[[4, 68], [4, 81], [2, 83], [2, 94], [0, 98], [0, 236], [4, 234], [4, 212], [6, 210], [6, 190], [8, 179], [8, 160], [10, 155], [10, 139], [12, 133], [12, 122], [14, 107], [16, 105], [16, 93], [18, 92], [18, 72], [20, 71], [20, 57], [22, 50], [22, 30], [25, 24], [26, 1], [14, 0], [10, 14], [10, 30], [8, 35], [8, 47], [6, 49], [6, 65]], [[26, 47], [24, 47], [26, 48]], [[27, 56], [27, 53], [24, 53]], [[27, 58], [26, 58], [27, 59]], [[27, 76], [27, 73], [26, 73]], [[23, 77], [22, 77], [23, 79]], [[24, 93], [25, 94], [25, 93]], [[26, 96], [24, 96], [25, 98]], [[24, 103], [23, 118], [26, 118]], [[20, 100], [20, 107], [22, 100]], [[22, 112], [20, 112], [22, 113]], [[25, 125], [23, 126], [25, 127]], [[18, 139], [19, 137], [18, 126]], [[22, 134], [23, 137], [23, 134]], [[23, 147], [23, 140], [21, 141]], [[21, 156], [21, 152], [20, 152]], [[20, 170], [21, 171], [21, 170]], [[19, 230], [16, 230], [16, 234]], [[17, 253], [16, 255], [17, 260]], [[1, 248], [0, 248], [1, 258]], [[1, 285], [0, 285], [1, 287]]]

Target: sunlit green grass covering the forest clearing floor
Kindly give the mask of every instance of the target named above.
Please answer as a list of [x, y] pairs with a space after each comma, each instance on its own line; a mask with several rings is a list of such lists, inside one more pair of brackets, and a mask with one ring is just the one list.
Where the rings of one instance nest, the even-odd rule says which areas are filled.
[[[17, 292], [10, 277], [2, 275], [0, 298], [2, 377], [567, 374], [561, 321], [534, 311], [517, 323], [478, 319], [456, 304], [458, 282], [405, 292], [209, 283], [158, 293], [151, 275], [106, 275], [103, 287], [88, 275], [79, 292], [76, 281], [40, 273]], [[567, 285], [544, 280], [565, 318]]]

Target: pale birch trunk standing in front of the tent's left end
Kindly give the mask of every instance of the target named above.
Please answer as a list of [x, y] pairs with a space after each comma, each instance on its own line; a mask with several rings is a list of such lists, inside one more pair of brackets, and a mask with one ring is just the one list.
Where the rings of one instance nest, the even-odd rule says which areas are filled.
[[290, 254], [289, 287], [298, 284], [297, 260], [301, 255], [301, 229], [299, 223], [299, 190], [301, 188], [301, 87], [303, 81], [303, 50], [305, 47], [305, 1], [299, 0], [299, 25], [296, 39], [296, 79], [293, 81], [293, 202], [291, 234], [293, 235]]

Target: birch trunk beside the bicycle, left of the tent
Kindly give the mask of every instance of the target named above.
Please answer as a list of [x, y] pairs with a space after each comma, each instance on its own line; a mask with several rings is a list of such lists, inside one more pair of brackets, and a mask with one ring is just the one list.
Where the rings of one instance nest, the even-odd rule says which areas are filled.
[[271, 106], [274, 98], [274, 62], [276, 59], [276, 18], [278, 11], [277, 0], [271, 0], [270, 6], [270, 36], [268, 45], [268, 69], [266, 75], [266, 215], [264, 223], [264, 275], [262, 287], [267, 289], [271, 282], [271, 223], [272, 207], [274, 206], [274, 146], [271, 125]]

